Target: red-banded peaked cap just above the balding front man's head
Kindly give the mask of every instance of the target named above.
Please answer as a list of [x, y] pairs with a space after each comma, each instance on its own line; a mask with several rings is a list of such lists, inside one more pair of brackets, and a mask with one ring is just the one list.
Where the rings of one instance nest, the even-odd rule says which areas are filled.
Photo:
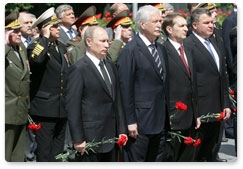
[[95, 14], [96, 7], [90, 6], [79, 16], [79, 18], [73, 23], [73, 25], [76, 25], [77, 28], [84, 25], [98, 25]]

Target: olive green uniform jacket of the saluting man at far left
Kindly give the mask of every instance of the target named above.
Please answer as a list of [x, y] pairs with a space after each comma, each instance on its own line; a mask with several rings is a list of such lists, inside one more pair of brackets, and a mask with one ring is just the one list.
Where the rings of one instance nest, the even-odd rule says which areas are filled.
[[27, 122], [29, 109], [29, 68], [23, 47], [19, 56], [5, 45], [5, 123], [22, 125]]

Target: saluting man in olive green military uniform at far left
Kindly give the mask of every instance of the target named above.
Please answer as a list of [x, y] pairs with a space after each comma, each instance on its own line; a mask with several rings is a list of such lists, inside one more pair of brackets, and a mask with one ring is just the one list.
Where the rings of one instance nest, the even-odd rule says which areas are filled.
[[5, 160], [24, 162], [29, 109], [29, 68], [19, 12], [5, 18]]

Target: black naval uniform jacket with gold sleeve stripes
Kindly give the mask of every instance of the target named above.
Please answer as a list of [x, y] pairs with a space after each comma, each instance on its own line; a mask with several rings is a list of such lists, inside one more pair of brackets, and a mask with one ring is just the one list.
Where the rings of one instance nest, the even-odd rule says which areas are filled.
[[[65, 76], [68, 64], [66, 47], [60, 41], [56, 46], [46, 37], [36, 39], [27, 52], [30, 62], [30, 96], [32, 115], [66, 117], [64, 109]], [[58, 51], [57, 51], [58, 49]]]

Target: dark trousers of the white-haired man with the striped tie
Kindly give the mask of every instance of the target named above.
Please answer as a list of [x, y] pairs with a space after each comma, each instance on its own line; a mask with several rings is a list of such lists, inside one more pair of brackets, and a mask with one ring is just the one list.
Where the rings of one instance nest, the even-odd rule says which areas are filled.
[[139, 134], [136, 139], [129, 137], [123, 148], [125, 162], [162, 162], [165, 155], [165, 133]]

